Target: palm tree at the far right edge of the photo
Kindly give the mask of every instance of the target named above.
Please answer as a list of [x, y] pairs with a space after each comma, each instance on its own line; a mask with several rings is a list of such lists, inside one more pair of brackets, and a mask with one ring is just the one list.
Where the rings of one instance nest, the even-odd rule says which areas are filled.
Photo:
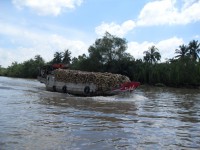
[[189, 48], [189, 54], [190, 54], [191, 58], [194, 61], [196, 61], [197, 58], [199, 58], [198, 53], [200, 52], [200, 43], [198, 43], [198, 40], [197, 41], [193, 40], [189, 43], [188, 48]]

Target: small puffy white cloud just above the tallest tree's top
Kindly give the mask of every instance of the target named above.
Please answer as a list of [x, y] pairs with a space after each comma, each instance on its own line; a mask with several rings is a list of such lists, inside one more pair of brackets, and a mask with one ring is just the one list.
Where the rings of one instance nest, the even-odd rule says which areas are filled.
[[112, 35], [124, 37], [129, 31], [133, 30], [135, 22], [132, 20], [125, 21], [121, 25], [114, 22], [107, 24], [102, 23], [100, 26], [95, 28], [95, 32], [99, 36], [103, 36], [105, 32], [109, 32]]

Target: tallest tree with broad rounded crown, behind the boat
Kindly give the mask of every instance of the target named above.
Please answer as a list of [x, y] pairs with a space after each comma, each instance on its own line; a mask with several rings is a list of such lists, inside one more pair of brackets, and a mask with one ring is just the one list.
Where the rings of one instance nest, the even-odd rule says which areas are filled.
[[125, 39], [116, 37], [106, 32], [105, 35], [97, 39], [95, 43], [89, 47], [89, 58], [93, 64], [102, 71], [113, 72], [115, 62], [122, 61], [130, 55], [126, 53], [127, 42]]

